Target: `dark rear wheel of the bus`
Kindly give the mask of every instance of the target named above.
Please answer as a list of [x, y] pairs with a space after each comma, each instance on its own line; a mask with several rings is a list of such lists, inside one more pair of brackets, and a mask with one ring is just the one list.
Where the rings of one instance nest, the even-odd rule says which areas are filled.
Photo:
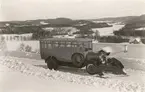
[[55, 57], [51, 57], [49, 59], [46, 60], [47, 63], [47, 67], [52, 70], [57, 70], [58, 69], [58, 62], [57, 59]]

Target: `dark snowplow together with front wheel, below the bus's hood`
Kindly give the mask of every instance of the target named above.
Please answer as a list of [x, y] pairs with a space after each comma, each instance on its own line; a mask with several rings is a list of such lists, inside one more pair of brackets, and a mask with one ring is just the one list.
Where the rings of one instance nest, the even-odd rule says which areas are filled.
[[123, 74], [127, 75], [124, 72], [124, 66], [120, 61], [118, 61], [115, 58], [110, 58], [107, 64], [100, 64], [99, 66], [96, 65], [94, 62], [96, 61], [91, 61], [86, 65], [86, 71], [91, 74], [99, 74], [102, 75], [103, 72], [105, 73], [113, 73], [113, 74]]

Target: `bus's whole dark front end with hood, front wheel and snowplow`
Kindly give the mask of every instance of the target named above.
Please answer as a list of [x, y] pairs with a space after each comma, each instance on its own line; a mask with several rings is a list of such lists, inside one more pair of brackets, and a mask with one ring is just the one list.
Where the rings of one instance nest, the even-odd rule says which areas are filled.
[[90, 52], [86, 57], [86, 71], [91, 74], [98, 74], [100, 76], [103, 73], [123, 74], [124, 65], [116, 58], [108, 57], [110, 53], [99, 51], [98, 53]]

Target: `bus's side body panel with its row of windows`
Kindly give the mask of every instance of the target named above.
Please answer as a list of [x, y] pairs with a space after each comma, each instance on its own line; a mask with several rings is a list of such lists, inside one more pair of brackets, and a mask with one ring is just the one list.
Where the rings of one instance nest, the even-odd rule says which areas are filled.
[[[90, 41], [89, 41], [90, 42]], [[61, 45], [60, 43], [63, 43]], [[78, 44], [79, 43], [79, 44]], [[91, 43], [91, 42], [90, 42]], [[72, 55], [75, 53], [81, 53], [84, 55], [85, 48], [90, 48], [91, 46], [84, 42], [73, 41], [50, 41], [50, 40], [40, 40], [40, 54], [42, 59], [47, 59], [49, 56], [54, 56], [60, 61], [72, 62]]]

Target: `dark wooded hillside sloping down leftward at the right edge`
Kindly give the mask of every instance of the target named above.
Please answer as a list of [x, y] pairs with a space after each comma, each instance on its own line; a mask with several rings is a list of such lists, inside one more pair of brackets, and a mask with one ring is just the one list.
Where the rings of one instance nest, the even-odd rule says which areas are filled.
[[127, 21], [127, 24], [119, 31], [114, 32], [115, 35], [121, 36], [145, 36], [145, 15], [138, 16]]

